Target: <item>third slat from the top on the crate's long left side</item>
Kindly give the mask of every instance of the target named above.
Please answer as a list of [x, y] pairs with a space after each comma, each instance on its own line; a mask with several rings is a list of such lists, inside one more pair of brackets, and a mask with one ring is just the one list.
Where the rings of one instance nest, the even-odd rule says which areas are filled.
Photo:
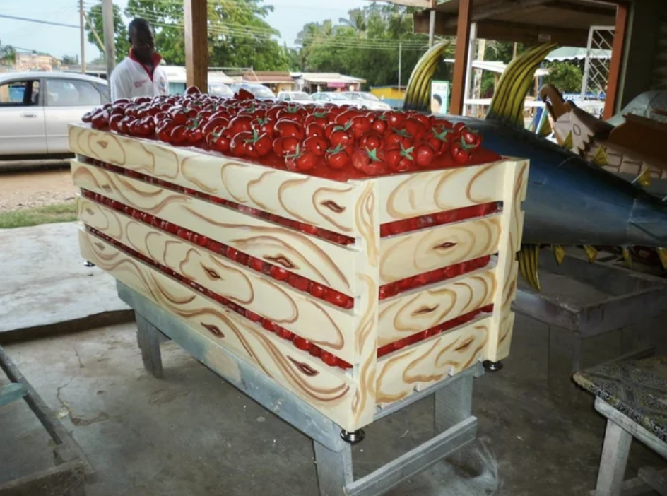
[[353, 363], [352, 311], [316, 300], [89, 199], [79, 198], [77, 211], [83, 223]]

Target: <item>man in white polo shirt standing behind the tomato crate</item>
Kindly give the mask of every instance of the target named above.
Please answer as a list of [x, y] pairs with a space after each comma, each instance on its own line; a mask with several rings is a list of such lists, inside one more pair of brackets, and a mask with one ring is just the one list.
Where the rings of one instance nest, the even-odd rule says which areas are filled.
[[167, 74], [155, 52], [155, 33], [148, 20], [135, 18], [128, 26], [130, 53], [111, 73], [111, 99], [168, 95]]

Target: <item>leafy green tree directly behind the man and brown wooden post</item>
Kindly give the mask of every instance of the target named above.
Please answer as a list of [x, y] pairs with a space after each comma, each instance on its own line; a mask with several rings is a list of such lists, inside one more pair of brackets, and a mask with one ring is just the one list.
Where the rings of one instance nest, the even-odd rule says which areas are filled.
[[[208, 3], [209, 66], [286, 71], [290, 54], [264, 18], [273, 10], [262, 0]], [[129, 0], [128, 17], [143, 17], [155, 28], [155, 45], [167, 64], [185, 64], [183, 4], [172, 0]]]

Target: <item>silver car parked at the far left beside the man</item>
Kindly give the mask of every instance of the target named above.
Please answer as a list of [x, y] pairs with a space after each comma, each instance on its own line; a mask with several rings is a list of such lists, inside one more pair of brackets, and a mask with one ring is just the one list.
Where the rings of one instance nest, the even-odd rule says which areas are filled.
[[108, 101], [104, 79], [64, 72], [0, 74], [0, 159], [71, 155], [67, 124]]

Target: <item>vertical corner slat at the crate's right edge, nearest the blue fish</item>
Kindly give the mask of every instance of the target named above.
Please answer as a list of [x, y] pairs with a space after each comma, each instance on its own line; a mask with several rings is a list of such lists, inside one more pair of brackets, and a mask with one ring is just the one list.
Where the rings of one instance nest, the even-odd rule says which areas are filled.
[[517, 295], [519, 264], [516, 253], [521, 249], [521, 235], [524, 229], [524, 212], [521, 205], [526, 199], [528, 187], [528, 162], [516, 162], [505, 167], [504, 209], [500, 215], [502, 232], [498, 244], [496, 276], [498, 290], [493, 296], [492, 325], [488, 340], [489, 360], [497, 362], [509, 355], [512, 341], [514, 312], [512, 301]]

